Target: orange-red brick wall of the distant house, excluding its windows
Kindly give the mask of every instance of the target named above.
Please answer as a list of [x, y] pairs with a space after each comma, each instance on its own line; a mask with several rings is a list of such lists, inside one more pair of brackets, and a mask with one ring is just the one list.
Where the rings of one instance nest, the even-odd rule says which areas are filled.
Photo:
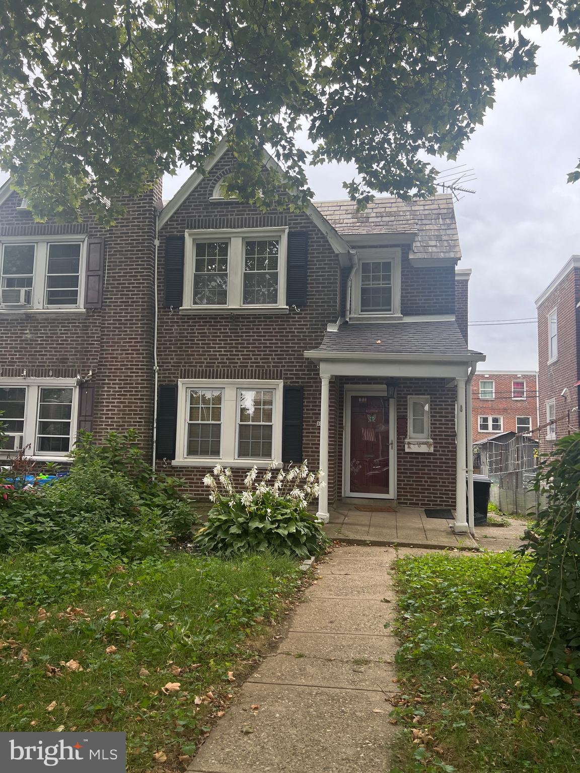
[[[502, 432], [515, 432], [516, 418], [518, 416], [531, 417], [531, 428], [537, 427], [537, 386], [535, 373], [493, 373], [485, 369], [482, 364], [480, 373], [473, 376], [471, 383], [473, 440], [486, 440], [499, 430], [479, 431], [479, 416], [501, 416], [503, 419]], [[489, 377], [486, 377], [489, 376]], [[512, 397], [512, 382], [526, 382], [526, 399], [514, 400]], [[493, 381], [495, 383], [495, 395], [493, 400], [479, 399], [479, 381]]]

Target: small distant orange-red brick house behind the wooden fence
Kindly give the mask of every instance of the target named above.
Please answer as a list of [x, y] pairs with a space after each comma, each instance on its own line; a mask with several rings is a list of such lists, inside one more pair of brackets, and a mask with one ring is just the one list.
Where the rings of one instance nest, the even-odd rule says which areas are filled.
[[473, 440], [537, 429], [537, 372], [484, 370], [471, 384]]

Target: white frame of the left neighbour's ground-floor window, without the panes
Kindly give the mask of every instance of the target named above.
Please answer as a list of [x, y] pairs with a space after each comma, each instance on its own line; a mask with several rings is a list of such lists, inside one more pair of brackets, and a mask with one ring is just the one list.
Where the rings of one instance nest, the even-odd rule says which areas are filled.
[[[24, 433], [22, 436], [22, 448], [27, 458], [37, 461], [70, 461], [70, 451], [77, 440], [78, 420], [78, 389], [75, 379], [11, 379], [0, 378], [0, 386], [26, 387], [26, 406], [24, 410]], [[55, 451], [36, 451], [36, 435], [38, 427], [39, 397], [41, 388], [70, 389], [73, 390], [73, 404], [70, 407], [70, 446], [67, 453]], [[0, 417], [2, 421], [2, 417]], [[29, 446], [29, 448], [27, 448]], [[9, 448], [0, 449], [0, 458], [13, 458], [18, 451]]]

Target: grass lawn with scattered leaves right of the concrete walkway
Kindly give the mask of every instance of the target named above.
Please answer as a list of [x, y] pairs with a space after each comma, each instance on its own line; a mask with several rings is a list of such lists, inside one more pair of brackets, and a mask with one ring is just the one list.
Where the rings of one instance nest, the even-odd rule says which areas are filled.
[[397, 561], [405, 729], [392, 771], [578, 773], [580, 697], [525, 662], [510, 605], [527, 564], [512, 553]]

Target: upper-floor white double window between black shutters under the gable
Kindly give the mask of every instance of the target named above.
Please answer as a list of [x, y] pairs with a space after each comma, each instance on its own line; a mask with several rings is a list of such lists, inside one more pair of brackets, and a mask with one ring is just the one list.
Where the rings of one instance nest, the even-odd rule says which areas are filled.
[[186, 231], [189, 312], [285, 309], [287, 230]]

